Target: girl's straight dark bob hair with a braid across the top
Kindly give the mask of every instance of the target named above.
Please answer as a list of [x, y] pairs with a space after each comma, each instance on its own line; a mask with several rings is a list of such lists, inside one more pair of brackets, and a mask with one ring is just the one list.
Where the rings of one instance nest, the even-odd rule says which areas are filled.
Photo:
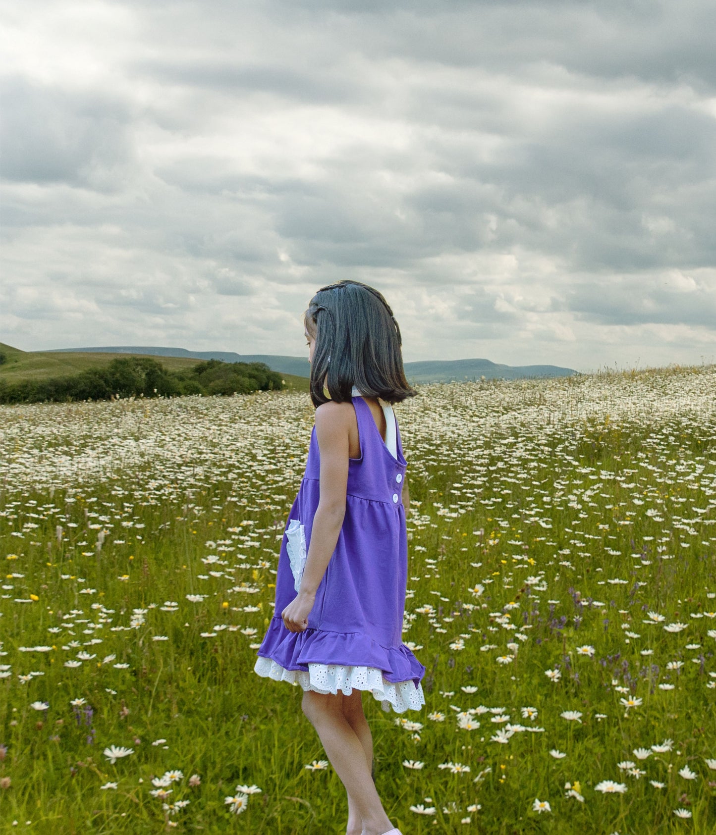
[[[418, 394], [405, 379], [398, 322], [373, 287], [349, 279], [322, 287], [303, 321], [316, 340], [311, 363], [315, 407], [329, 400], [350, 402], [353, 386], [391, 404]], [[323, 393], [324, 381], [330, 397]]]

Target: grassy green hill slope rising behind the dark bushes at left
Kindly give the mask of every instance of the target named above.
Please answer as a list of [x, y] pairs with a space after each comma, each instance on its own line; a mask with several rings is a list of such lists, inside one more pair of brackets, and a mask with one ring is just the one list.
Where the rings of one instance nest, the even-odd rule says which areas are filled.
[[[88, 368], [101, 368], [108, 366], [117, 357], [140, 357], [141, 354], [109, 354], [98, 353], [73, 353], [53, 351], [20, 351], [0, 342], [0, 350], [5, 354], [6, 360], [0, 367], [0, 373], [8, 382], [20, 382], [21, 380], [44, 380], [48, 377], [72, 377], [79, 372], [87, 371]], [[149, 357], [149, 355], [146, 355]], [[151, 360], [160, 362], [169, 371], [181, 371], [201, 362], [198, 359], [187, 357], [149, 357]], [[296, 377], [292, 374], [283, 374], [288, 391], [307, 392], [308, 378]]]

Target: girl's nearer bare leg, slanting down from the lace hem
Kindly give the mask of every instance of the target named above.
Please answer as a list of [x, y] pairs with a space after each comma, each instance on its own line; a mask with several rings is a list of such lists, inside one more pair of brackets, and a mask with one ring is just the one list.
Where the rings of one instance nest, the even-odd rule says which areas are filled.
[[328, 759], [363, 823], [362, 835], [383, 835], [393, 828], [371, 777], [358, 734], [343, 715], [343, 693], [304, 691], [302, 711], [316, 728]]

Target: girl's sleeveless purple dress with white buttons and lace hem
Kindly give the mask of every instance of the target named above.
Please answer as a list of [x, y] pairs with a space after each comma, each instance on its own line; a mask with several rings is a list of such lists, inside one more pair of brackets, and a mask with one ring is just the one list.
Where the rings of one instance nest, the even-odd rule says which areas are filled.
[[[353, 387], [360, 458], [348, 458], [346, 513], [336, 549], [318, 585], [307, 629], [291, 632], [281, 617], [296, 597], [318, 507], [320, 456], [314, 425], [306, 472], [288, 517], [278, 557], [276, 605], [256, 650], [254, 671], [303, 690], [349, 696], [370, 690], [384, 711], [420, 710], [425, 668], [402, 640], [408, 538], [401, 497], [407, 462], [393, 409], [381, 401], [388, 441]], [[392, 422], [392, 423], [391, 423]]]

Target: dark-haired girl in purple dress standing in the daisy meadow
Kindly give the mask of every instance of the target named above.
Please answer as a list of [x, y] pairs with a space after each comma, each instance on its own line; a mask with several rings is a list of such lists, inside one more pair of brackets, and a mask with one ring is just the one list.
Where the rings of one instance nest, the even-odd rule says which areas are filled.
[[425, 704], [424, 665], [402, 640], [409, 493], [390, 405], [417, 392], [398, 322], [373, 287], [322, 287], [304, 333], [316, 422], [254, 670], [302, 686], [302, 711], [348, 792], [347, 835], [401, 835], [373, 782], [362, 696], [388, 712]]

